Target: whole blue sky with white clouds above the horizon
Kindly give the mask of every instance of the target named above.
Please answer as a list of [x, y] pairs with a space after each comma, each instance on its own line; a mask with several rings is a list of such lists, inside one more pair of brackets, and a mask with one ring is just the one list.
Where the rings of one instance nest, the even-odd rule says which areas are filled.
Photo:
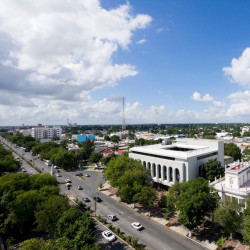
[[249, 1], [0, 3], [0, 126], [250, 122]]

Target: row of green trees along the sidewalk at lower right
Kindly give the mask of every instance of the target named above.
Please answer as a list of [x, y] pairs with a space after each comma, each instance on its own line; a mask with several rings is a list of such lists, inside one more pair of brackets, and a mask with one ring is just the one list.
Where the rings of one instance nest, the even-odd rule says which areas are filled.
[[161, 197], [159, 206], [167, 209], [166, 217], [179, 211], [179, 222], [190, 229], [211, 214], [214, 222], [224, 228], [225, 235], [232, 237], [243, 225], [243, 239], [250, 245], [250, 199], [242, 214], [242, 206], [236, 199], [222, 201], [204, 178], [199, 177], [186, 183], [176, 182], [169, 192]]

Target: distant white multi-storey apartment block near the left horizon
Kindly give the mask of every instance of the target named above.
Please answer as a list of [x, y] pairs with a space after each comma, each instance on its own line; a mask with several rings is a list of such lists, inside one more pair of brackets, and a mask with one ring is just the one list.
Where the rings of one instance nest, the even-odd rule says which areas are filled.
[[31, 136], [36, 139], [51, 139], [54, 136], [61, 138], [62, 128], [60, 126], [38, 126], [31, 129]]

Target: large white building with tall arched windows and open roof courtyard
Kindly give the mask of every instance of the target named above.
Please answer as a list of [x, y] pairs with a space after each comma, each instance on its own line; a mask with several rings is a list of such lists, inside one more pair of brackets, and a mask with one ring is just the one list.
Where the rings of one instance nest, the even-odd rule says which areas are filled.
[[151, 171], [154, 182], [171, 186], [202, 176], [204, 163], [217, 159], [224, 166], [224, 143], [217, 140], [177, 139], [171, 145], [133, 147], [129, 157]]

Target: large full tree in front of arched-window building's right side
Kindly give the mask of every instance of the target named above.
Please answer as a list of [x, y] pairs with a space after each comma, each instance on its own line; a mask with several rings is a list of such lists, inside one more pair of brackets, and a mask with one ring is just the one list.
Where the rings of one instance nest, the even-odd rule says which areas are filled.
[[176, 202], [177, 209], [180, 211], [179, 221], [184, 226], [193, 228], [204, 216], [214, 211], [219, 196], [201, 177], [181, 183], [181, 186]]

